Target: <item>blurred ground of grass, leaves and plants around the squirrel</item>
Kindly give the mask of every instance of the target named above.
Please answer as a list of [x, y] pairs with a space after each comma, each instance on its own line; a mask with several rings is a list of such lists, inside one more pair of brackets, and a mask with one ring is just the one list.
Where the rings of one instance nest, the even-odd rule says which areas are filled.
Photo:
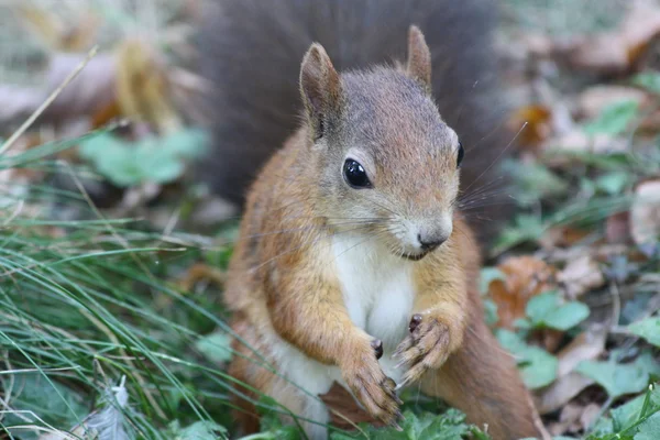
[[[194, 167], [209, 1], [0, 1], [0, 439], [234, 432], [240, 213]], [[484, 250], [488, 323], [552, 436], [660, 439], [660, 3], [493, 4], [519, 147], [497, 164], [516, 211]], [[251, 439], [300, 438], [258, 404]], [[408, 437], [364, 432], [469, 438], [436, 402], [405, 408]], [[410, 437], [429, 424], [444, 437]]]

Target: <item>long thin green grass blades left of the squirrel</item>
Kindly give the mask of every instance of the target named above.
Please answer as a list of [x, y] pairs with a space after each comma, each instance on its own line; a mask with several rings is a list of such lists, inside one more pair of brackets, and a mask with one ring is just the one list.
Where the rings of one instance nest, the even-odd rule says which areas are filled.
[[[64, 147], [46, 145], [10, 162], [29, 166]], [[165, 243], [130, 219], [51, 220], [53, 207], [43, 202], [54, 196], [65, 206], [86, 204], [80, 195], [54, 195], [41, 185], [30, 188], [26, 200], [6, 201], [0, 230], [4, 409], [20, 407], [21, 391], [10, 382], [42, 377], [40, 389], [51, 387], [61, 400], [51, 417], [42, 416], [44, 422], [68, 429], [81, 415], [72, 399], [89, 409], [125, 375], [136, 406], [123, 409], [141, 437], [166, 438], [157, 426], [175, 418], [210, 421], [207, 407], [227, 407], [231, 384], [220, 366], [205, 363], [191, 348], [200, 334], [226, 328], [219, 297], [189, 298], [163, 282], [202, 251], [185, 240]], [[21, 208], [28, 211], [34, 202], [41, 212], [24, 216]], [[196, 378], [207, 387], [191, 389]], [[38, 409], [38, 402], [26, 404]], [[7, 414], [2, 424], [11, 425]]]

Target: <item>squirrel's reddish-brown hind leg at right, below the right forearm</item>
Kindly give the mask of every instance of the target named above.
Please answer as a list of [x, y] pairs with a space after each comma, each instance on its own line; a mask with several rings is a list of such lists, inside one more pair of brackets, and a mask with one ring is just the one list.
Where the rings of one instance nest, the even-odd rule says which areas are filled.
[[477, 316], [481, 308], [473, 310], [462, 346], [442, 367], [422, 376], [421, 392], [461, 409], [470, 422], [487, 425], [494, 440], [544, 438], [514, 359]]

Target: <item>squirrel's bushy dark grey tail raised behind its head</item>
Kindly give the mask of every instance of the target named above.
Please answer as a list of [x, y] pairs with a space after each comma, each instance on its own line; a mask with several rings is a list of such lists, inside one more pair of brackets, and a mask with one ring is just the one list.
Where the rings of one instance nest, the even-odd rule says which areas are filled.
[[416, 23], [431, 48], [431, 92], [470, 152], [461, 207], [487, 242], [507, 219], [508, 179], [497, 169], [516, 150], [493, 48], [497, 0], [213, 0], [198, 37], [211, 88], [205, 114], [215, 139], [195, 175], [240, 210], [266, 161], [298, 129], [298, 70], [312, 42], [340, 72], [405, 59]]

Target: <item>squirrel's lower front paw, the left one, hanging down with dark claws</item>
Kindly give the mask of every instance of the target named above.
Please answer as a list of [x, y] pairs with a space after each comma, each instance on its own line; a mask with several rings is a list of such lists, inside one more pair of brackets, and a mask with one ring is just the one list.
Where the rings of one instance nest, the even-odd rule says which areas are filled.
[[384, 424], [398, 428], [403, 402], [395, 393], [396, 384], [383, 373], [376, 358], [382, 355], [382, 344], [374, 341], [362, 354], [351, 353], [341, 365], [342, 376], [353, 396], [364, 409]]

